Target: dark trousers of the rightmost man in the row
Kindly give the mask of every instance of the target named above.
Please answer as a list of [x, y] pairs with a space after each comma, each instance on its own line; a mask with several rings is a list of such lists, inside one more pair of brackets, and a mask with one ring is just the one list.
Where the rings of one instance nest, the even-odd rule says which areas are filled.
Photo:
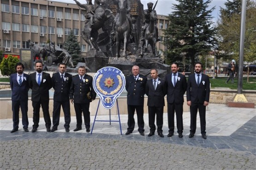
[[200, 116], [200, 126], [201, 126], [201, 134], [206, 134], [205, 132], [205, 112], [206, 112], [206, 106], [203, 106], [203, 103], [191, 103], [190, 106], [190, 131], [192, 133], [196, 133], [196, 115], [197, 110], [199, 111]]

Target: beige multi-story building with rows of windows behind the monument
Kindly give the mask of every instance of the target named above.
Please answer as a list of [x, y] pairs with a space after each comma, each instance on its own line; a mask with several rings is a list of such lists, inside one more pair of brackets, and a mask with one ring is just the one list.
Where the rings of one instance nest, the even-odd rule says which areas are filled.
[[[48, 0], [1, 0], [0, 10], [0, 50], [4, 54], [19, 55], [21, 48], [29, 48], [28, 40], [40, 46], [50, 40], [62, 47], [71, 30], [80, 42], [81, 56], [86, 56], [89, 50], [89, 45], [80, 35], [85, 18], [77, 4]], [[160, 36], [167, 23], [166, 16], [158, 15]], [[157, 49], [164, 51], [162, 41], [157, 43]]]

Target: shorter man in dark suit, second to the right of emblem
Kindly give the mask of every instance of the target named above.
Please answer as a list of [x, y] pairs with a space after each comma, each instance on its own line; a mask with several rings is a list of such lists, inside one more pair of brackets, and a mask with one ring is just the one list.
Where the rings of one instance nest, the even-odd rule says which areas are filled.
[[148, 109], [149, 109], [149, 127], [150, 133], [148, 136], [155, 135], [155, 114], [156, 114], [156, 125], [157, 134], [160, 137], [163, 135], [163, 112], [165, 106], [164, 96], [166, 90], [164, 86], [164, 80], [158, 77], [158, 71], [151, 69], [150, 76], [151, 80], [146, 83], [146, 94], [148, 96]]

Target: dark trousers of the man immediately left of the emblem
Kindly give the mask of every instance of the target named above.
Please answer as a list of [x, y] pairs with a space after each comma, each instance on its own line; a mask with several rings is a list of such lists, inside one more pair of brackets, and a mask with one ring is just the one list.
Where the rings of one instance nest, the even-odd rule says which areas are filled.
[[82, 112], [83, 120], [86, 129], [90, 129], [90, 112], [89, 112], [90, 103], [74, 103], [76, 118], [77, 118], [77, 128], [82, 127]]

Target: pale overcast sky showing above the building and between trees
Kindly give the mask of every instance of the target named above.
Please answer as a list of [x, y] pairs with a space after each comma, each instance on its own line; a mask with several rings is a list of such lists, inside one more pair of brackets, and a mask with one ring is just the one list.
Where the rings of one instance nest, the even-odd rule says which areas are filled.
[[[65, 3], [75, 3], [74, 0], [50, 0], [50, 1], [60, 1]], [[80, 3], [86, 3], [86, 0], [78, 0]], [[155, 5], [156, 0], [141, 0], [141, 3], [144, 6], [144, 9], [147, 8], [147, 3], [153, 2]], [[176, 3], [176, 0], [158, 0], [157, 5], [155, 7], [156, 13], [158, 15], [168, 15], [172, 12], [173, 3]], [[209, 9], [215, 6], [214, 12], [212, 12], [213, 21], [215, 22], [219, 18], [220, 14], [220, 6], [225, 7], [224, 3], [226, 0], [212, 0]], [[94, 3], [94, 0], [93, 0]]]

